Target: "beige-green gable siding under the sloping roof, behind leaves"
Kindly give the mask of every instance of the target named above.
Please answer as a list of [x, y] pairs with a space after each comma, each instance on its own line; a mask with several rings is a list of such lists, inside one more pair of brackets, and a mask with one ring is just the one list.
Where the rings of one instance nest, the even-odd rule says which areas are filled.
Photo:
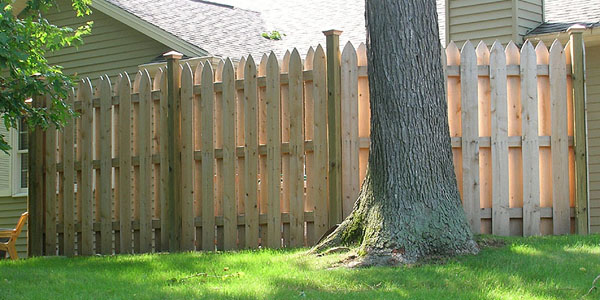
[[170, 50], [99, 11], [76, 18], [69, 1], [59, 1], [58, 9], [48, 12], [46, 17], [52, 24], [73, 28], [94, 21], [92, 34], [84, 38], [83, 46], [62, 49], [48, 56], [50, 63], [63, 66], [67, 74], [97, 79], [103, 74], [114, 77], [126, 71], [133, 77], [138, 65], [149, 63]]

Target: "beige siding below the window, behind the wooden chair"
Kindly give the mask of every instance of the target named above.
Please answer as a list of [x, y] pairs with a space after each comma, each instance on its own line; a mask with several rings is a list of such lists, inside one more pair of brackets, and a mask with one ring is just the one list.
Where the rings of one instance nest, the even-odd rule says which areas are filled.
[[[27, 197], [0, 197], [0, 228], [14, 228], [23, 212], [27, 211]], [[27, 257], [27, 225], [17, 240], [19, 257]]]

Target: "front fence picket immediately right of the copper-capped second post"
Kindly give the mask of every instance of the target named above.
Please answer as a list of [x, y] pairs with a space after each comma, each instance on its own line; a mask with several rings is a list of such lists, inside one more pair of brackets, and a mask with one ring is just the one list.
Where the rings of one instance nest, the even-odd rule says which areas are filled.
[[181, 250], [194, 250], [194, 82], [189, 64], [181, 71]]

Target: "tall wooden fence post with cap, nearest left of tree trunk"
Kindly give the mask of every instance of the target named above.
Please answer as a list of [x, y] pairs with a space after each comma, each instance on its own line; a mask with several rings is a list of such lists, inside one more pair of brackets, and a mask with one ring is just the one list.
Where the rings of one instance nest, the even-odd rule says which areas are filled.
[[323, 31], [327, 40], [327, 123], [329, 147], [329, 227], [342, 222], [342, 98], [340, 30]]

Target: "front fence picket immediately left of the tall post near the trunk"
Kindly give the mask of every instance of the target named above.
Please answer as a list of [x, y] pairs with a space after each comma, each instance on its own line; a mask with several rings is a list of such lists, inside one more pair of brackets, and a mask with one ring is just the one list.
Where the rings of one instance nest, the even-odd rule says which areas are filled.
[[329, 229], [327, 214], [327, 70], [323, 47], [315, 50], [313, 60], [313, 101], [314, 131], [313, 149], [314, 189], [311, 197], [314, 203], [315, 232], [314, 241], [318, 241]]

